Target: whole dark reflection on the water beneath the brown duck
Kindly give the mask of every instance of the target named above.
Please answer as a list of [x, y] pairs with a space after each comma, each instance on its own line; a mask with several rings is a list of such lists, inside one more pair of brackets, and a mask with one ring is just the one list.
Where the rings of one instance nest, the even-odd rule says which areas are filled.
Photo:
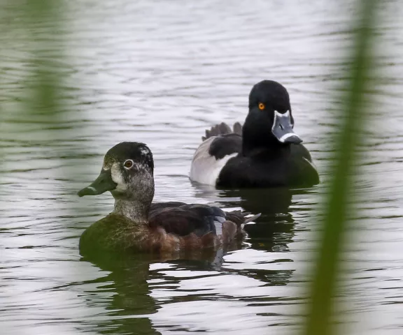
[[139, 253], [99, 253], [97, 251], [82, 253], [81, 260], [91, 262], [103, 271], [108, 271], [104, 277], [87, 282], [96, 284], [87, 291], [87, 304], [100, 304], [99, 296], [94, 292], [108, 292], [111, 298], [101, 300], [101, 305], [108, 310], [108, 316], [97, 324], [99, 334], [160, 334], [153, 327], [147, 315], [157, 313], [157, 301], [150, 295], [148, 282], [151, 280], [169, 281], [170, 285], [178, 284], [181, 278], [166, 278], [158, 270], [150, 270], [155, 262], [166, 262], [170, 267], [183, 267], [190, 271], [222, 269], [224, 255], [228, 251], [240, 248], [240, 242], [227, 248], [201, 249], [178, 255], [176, 259], [164, 259], [150, 254]]

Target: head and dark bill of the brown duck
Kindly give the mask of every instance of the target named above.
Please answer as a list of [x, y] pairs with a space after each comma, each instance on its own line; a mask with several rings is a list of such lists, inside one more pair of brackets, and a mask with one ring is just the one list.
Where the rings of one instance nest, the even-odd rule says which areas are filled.
[[101, 173], [78, 195], [98, 195], [111, 191], [114, 198], [153, 198], [153, 154], [146, 144], [122, 142], [108, 150]]

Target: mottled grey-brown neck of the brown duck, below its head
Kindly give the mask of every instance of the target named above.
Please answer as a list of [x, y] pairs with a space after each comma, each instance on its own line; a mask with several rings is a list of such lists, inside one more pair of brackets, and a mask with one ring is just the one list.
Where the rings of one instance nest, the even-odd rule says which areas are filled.
[[115, 199], [113, 213], [125, 216], [136, 224], [148, 224], [150, 202], [133, 199]]

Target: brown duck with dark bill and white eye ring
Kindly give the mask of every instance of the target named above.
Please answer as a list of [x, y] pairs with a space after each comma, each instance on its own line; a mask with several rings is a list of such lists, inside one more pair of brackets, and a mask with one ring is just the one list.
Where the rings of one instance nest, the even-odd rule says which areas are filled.
[[171, 255], [179, 251], [222, 248], [245, 234], [243, 225], [257, 214], [225, 212], [208, 204], [156, 202], [154, 161], [148, 146], [121, 142], [108, 150], [99, 177], [79, 197], [110, 191], [113, 211], [80, 237], [80, 253], [93, 250]]

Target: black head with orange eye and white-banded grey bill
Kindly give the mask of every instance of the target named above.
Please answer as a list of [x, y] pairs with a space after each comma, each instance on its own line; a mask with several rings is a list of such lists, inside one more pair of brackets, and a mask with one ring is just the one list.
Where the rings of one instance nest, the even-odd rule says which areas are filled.
[[243, 126], [243, 141], [250, 147], [301, 143], [301, 138], [292, 128], [294, 119], [285, 87], [272, 80], [255, 84], [249, 94], [249, 114]]

